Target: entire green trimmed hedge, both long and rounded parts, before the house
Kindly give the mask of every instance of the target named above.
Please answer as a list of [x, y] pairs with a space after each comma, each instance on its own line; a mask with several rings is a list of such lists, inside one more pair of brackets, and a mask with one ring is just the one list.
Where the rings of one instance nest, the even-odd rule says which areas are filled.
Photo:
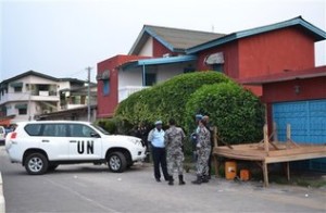
[[264, 108], [260, 100], [217, 72], [178, 75], [133, 93], [115, 111], [115, 129], [128, 134], [140, 123], [151, 127], [154, 121], [162, 120], [166, 125], [174, 117], [191, 134], [197, 113], [209, 115], [211, 125], [218, 128], [220, 139], [228, 143], [262, 139]]

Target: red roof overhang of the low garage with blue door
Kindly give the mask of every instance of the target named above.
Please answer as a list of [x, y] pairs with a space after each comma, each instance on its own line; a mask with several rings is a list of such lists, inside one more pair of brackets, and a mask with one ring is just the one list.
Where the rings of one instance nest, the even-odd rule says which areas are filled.
[[[280, 83], [294, 79], [308, 79], [326, 76], [326, 66], [314, 67], [302, 71], [287, 71], [285, 73], [265, 75], [238, 80], [242, 85], [264, 85], [271, 83]], [[326, 84], [326, 83], [325, 83]]]

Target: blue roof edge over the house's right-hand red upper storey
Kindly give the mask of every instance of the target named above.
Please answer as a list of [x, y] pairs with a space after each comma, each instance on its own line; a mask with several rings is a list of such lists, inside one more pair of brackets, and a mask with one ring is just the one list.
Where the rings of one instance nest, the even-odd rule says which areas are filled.
[[221, 46], [221, 45], [224, 45], [224, 43], [227, 43], [227, 42], [240, 39], [240, 38], [246, 38], [249, 36], [254, 36], [254, 35], [259, 35], [259, 34], [263, 34], [263, 33], [267, 33], [267, 32], [272, 32], [272, 30], [277, 30], [277, 29], [281, 29], [281, 28], [286, 28], [286, 27], [291, 27], [291, 26], [297, 26], [297, 27], [303, 28], [305, 32], [308, 32], [309, 34], [311, 34], [314, 37], [315, 41], [321, 41], [321, 40], [326, 39], [326, 32], [312, 25], [311, 23], [306, 22], [301, 16], [299, 16], [299, 17], [294, 17], [292, 20], [288, 20], [288, 21], [272, 24], [272, 25], [266, 25], [266, 26], [262, 26], [262, 27], [258, 27], [258, 28], [253, 28], [253, 29], [247, 29], [247, 30], [242, 30], [242, 32], [233, 33], [233, 34], [229, 34], [222, 38], [217, 38], [215, 40], [189, 48], [186, 50], [186, 53], [192, 54], [192, 53], [200, 52], [202, 50], [206, 50], [206, 49], [210, 49], [210, 48], [213, 48], [216, 46]]

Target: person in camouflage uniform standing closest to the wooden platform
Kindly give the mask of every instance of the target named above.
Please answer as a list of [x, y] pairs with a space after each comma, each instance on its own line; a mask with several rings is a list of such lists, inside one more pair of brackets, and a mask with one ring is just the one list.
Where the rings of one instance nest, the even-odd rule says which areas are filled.
[[197, 142], [197, 179], [192, 184], [208, 183], [209, 179], [209, 158], [211, 154], [211, 133], [205, 127], [205, 121], [199, 121], [198, 142]]

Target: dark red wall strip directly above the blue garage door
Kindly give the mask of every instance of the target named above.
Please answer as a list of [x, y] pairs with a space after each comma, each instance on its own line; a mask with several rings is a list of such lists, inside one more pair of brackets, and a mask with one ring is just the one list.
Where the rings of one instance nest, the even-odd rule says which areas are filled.
[[[299, 86], [300, 91], [296, 93], [294, 87]], [[294, 79], [280, 83], [263, 85], [262, 101], [266, 103], [267, 121], [272, 130], [272, 104], [286, 101], [304, 101], [326, 99], [326, 76], [308, 79]]]

